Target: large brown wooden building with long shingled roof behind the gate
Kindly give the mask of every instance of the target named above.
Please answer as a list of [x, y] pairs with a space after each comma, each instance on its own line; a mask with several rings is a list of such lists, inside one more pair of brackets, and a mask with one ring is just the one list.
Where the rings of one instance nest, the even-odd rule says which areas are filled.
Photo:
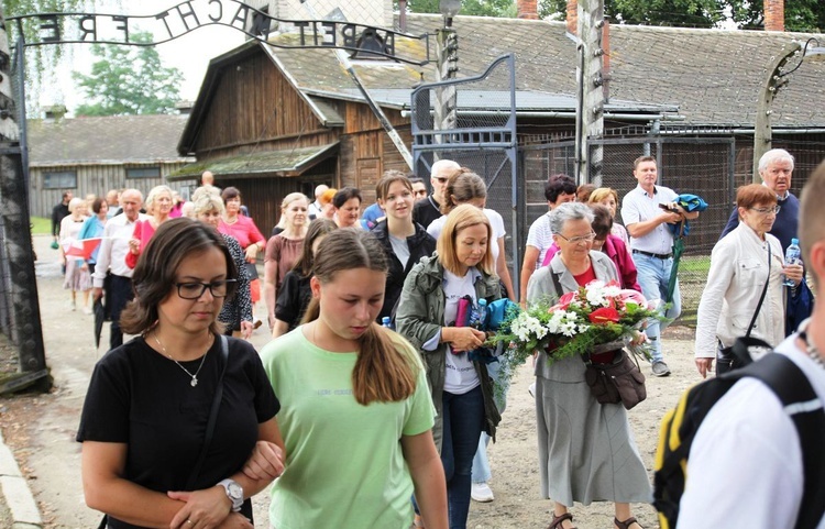
[[[406, 32], [432, 36], [442, 23], [440, 15], [408, 14]], [[548, 146], [543, 152], [535, 147], [541, 137], [548, 145], [574, 139], [579, 64], [574, 40], [564, 22], [457, 16], [453, 26], [461, 77], [484, 71], [503, 54], [516, 55], [518, 178], [534, 206], [527, 217], [538, 214], [547, 176], [572, 173], [572, 146]], [[705, 217], [723, 222], [735, 186], [715, 167], [735, 165], [735, 183], [750, 177], [748, 161], [766, 66], [790, 41], [822, 35], [620, 24], [609, 32], [605, 124], [608, 140], [627, 140], [627, 144], [605, 150], [605, 181], [624, 192], [634, 184], [632, 159], [657, 137], [695, 140], [662, 158], [662, 175], [678, 178], [666, 180], [669, 185], [690, 189], [696, 175], [707, 174], [703, 186], [717, 192], [712, 199], [718, 212]], [[288, 32], [271, 36], [273, 43], [297, 38]], [[430, 41], [432, 59], [435, 38]], [[396, 49], [407, 57], [428, 56], [424, 41], [396, 43]], [[409, 95], [417, 84], [437, 80], [435, 64], [356, 59], [353, 67], [411, 148]], [[825, 65], [805, 62], [773, 104], [774, 146], [789, 148], [803, 162], [794, 188], [825, 156], [825, 87], [818, 82], [823, 74]], [[717, 139], [721, 145], [734, 141], [734, 154], [708, 165], [726, 151], [695, 148], [707, 139]], [[355, 186], [366, 205], [373, 201], [374, 183], [384, 170], [407, 169], [333, 51], [260, 43], [248, 43], [210, 63], [178, 148], [198, 163], [175, 173], [172, 180], [194, 185], [202, 170], [212, 170], [219, 186], [241, 190], [264, 231], [277, 221], [279, 201], [288, 192], [310, 195], [319, 183]], [[705, 166], [706, 172], [696, 169]], [[530, 221], [519, 220], [522, 225]], [[708, 234], [707, 240], [715, 239]]]

